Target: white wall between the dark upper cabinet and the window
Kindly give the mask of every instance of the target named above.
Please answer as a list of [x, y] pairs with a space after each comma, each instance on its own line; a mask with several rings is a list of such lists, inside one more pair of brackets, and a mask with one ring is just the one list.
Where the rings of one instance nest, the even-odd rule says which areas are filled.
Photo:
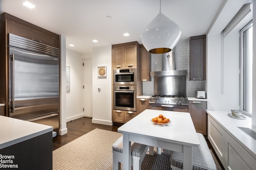
[[[221, 33], [208, 35], [207, 43], [207, 109], [227, 111], [239, 109], [239, 33], [231, 31], [224, 37], [223, 61]], [[224, 76], [223, 82], [222, 76]]]

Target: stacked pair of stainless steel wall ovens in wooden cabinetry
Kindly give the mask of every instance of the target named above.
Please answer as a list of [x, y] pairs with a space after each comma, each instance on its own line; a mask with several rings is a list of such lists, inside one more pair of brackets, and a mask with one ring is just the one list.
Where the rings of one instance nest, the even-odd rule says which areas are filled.
[[113, 109], [136, 111], [137, 68], [113, 70]]

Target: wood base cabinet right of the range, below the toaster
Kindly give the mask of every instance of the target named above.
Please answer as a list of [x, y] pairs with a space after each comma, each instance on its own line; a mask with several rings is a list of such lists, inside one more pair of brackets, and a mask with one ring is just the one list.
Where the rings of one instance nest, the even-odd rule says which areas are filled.
[[206, 101], [188, 101], [188, 112], [191, 115], [196, 132], [207, 135]]

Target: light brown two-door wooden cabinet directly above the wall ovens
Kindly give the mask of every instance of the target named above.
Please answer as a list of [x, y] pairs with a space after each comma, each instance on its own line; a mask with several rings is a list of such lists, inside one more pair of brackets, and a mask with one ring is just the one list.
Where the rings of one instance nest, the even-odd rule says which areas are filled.
[[113, 69], [137, 68], [139, 59], [140, 44], [137, 41], [112, 45]]

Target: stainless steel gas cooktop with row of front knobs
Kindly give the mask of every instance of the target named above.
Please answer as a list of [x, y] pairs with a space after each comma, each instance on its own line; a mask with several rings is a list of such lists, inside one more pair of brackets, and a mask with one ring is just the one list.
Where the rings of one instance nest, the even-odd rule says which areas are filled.
[[188, 98], [186, 96], [178, 96], [178, 95], [154, 95], [149, 98], [149, 103], [188, 105]]

